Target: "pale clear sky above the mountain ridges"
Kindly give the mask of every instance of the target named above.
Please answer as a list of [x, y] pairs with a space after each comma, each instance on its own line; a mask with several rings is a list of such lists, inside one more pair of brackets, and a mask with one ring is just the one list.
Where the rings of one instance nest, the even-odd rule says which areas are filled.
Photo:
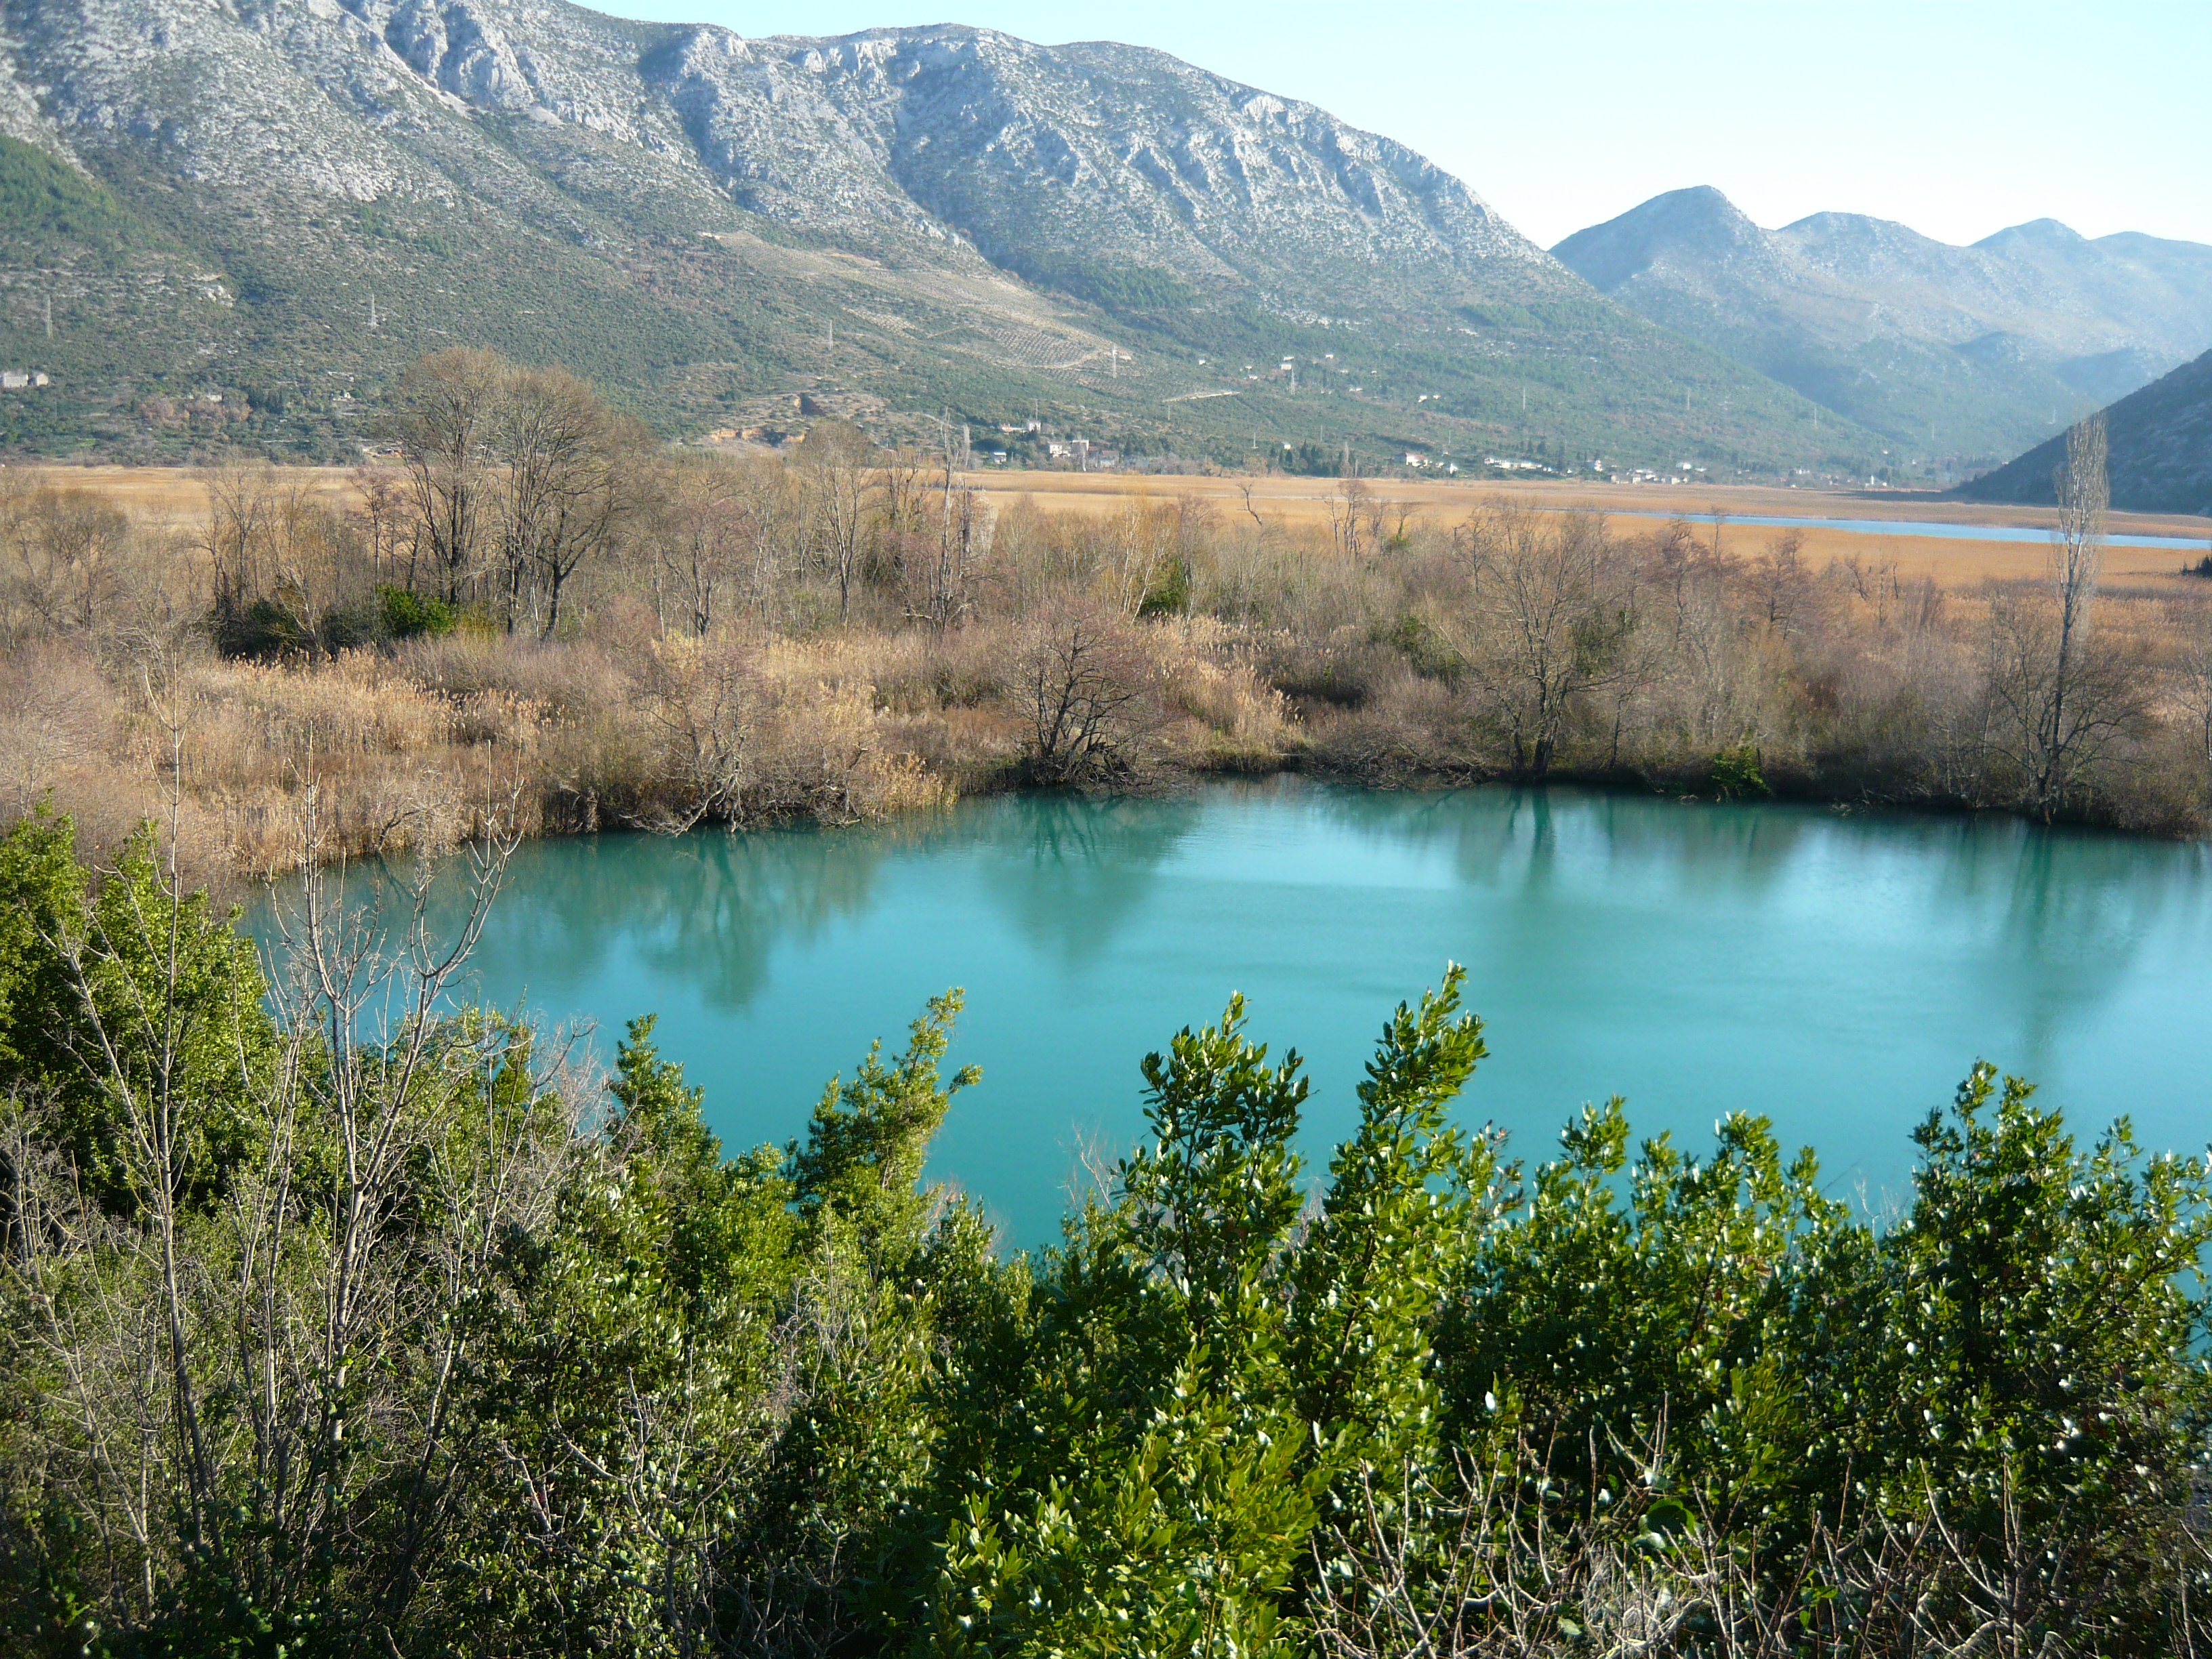
[[1546, 248], [1710, 184], [1763, 226], [2212, 243], [2212, 0], [597, 0], [743, 35], [1124, 40], [1409, 144]]

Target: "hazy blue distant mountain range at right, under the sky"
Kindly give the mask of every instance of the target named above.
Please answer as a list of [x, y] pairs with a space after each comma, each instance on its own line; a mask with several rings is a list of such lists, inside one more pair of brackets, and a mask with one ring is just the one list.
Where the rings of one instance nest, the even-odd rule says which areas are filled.
[[2006, 456], [2212, 345], [2212, 248], [2055, 219], [1953, 248], [1816, 212], [1761, 230], [1712, 188], [1553, 248], [1597, 290], [1960, 467]]

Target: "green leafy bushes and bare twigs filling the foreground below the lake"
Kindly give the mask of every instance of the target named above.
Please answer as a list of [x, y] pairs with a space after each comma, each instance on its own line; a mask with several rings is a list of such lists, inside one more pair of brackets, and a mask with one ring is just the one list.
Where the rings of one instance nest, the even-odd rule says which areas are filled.
[[732, 1159], [650, 1020], [599, 1079], [445, 1013], [420, 911], [394, 962], [310, 885], [263, 980], [153, 841], [69, 847], [0, 843], [9, 1652], [2208, 1637], [2205, 1164], [1989, 1066], [1874, 1225], [1759, 1117], [1458, 1128], [1458, 969], [1310, 1172], [1232, 1000], [1006, 1256], [920, 1179], [958, 993]]

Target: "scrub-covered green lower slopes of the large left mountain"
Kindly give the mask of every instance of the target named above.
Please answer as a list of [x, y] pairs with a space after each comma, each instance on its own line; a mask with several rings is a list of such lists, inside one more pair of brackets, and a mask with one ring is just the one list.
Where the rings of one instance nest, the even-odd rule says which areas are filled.
[[1321, 323], [1110, 248], [1015, 248], [1031, 285], [1009, 288], [918, 234], [748, 212], [586, 128], [478, 115], [469, 135], [538, 188], [301, 206], [179, 184], [135, 148], [93, 153], [104, 186], [7, 148], [7, 199], [35, 210], [0, 215], [0, 358], [53, 385], [0, 403], [0, 449], [356, 460], [361, 411], [407, 363], [476, 345], [573, 367], [672, 440], [803, 429], [805, 396], [887, 442], [1035, 411], [1060, 438], [1219, 465], [1283, 445], [1360, 471], [1407, 451], [1690, 456], [1712, 478], [1880, 460], [1871, 434], [1597, 294], [1475, 303], [1407, 279]]

